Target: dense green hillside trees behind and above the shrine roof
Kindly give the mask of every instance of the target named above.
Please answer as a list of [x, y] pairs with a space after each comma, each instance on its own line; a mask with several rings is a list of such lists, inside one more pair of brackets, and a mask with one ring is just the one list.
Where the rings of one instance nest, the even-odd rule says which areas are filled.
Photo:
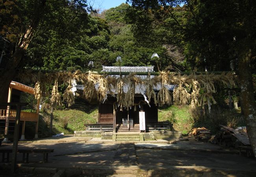
[[[23, 2], [19, 3], [22, 5]], [[104, 11], [103, 18], [99, 18], [88, 15], [79, 4], [74, 6], [65, 0], [62, 4], [48, 2], [47, 13], [38, 24], [19, 67], [88, 70], [89, 61], [94, 61], [94, 70], [101, 70], [102, 65], [119, 65], [115, 59], [121, 56], [122, 66], [154, 65], [155, 70], [168, 66], [173, 70], [183, 70], [184, 58], [175, 47], [154, 45], [154, 42], [145, 46], [143, 41], [137, 41], [131, 25], [125, 21], [129, 7], [121, 4]], [[170, 54], [172, 52], [178, 53], [178, 62]], [[158, 53], [160, 59], [150, 59], [153, 53]]]

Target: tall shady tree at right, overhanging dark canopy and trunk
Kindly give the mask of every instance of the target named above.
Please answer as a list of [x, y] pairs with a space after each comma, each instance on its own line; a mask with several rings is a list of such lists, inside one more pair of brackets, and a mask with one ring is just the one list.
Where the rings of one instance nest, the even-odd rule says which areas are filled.
[[[238, 58], [241, 106], [256, 156], [256, 105], [251, 66], [256, 49], [254, 0], [128, 0], [139, 39], [184, 46], [192, 66], [228, 69]], [[180, 4], [184, 6], [180, 7]]]

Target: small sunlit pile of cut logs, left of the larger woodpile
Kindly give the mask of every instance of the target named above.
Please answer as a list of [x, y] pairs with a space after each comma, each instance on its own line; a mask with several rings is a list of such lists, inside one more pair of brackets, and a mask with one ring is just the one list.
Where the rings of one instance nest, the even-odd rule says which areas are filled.
[[193, 128], [187, 136], [188, 138], [194, 138], [195, 140], [204, 140], [208, 141], [211, 138], [211, 131], [202, 127], [202, 128]]

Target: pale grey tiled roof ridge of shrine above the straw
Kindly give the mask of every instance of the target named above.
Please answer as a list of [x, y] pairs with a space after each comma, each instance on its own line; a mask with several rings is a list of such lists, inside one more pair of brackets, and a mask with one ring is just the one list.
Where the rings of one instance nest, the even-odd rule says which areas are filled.
[[[105, 72], [120, 72], [120, 66], [102, 66]], [[154, 66], [121, 66], [121, 72], [154, 72]]]

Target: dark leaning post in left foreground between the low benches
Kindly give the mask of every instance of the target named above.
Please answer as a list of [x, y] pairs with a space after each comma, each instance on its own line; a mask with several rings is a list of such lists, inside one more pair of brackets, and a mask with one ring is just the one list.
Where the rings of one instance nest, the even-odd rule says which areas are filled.
[[14, 129], [14, 136], [13, 136], [13, 153], [12, 153], [12, 161], [11, 161], [12, 172], [15, 171], [16, 163], [17, 163], [17, 150], [18, 150], [19, 128], [20, 128], [20, 109], [21, 109], [21, 106], [17, 105], [15, 129]]

